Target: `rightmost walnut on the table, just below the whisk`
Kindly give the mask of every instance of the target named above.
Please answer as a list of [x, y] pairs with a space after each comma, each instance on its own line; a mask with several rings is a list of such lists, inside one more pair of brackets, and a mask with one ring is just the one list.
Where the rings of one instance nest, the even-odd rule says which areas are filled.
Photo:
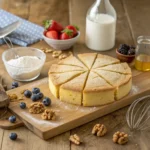
[[117, 144], [126, 144], [128, 142], [128, 134], [117, 131], [113, 135], [113, 142]]

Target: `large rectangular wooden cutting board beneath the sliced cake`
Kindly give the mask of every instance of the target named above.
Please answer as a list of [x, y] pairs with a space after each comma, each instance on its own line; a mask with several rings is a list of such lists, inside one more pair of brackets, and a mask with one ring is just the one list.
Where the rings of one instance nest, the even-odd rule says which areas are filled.
[[[42, 120], [41, 114], [30, 114], [28, 109], [20, 109], [19, 102], [11, 102], [9, 109], [15, 113], [32, 132], [43, 139], [48, 139], [127, 106], [138, 97], [148, 94], [150, 92], [149, 78], [150, 72], [134, 76], [132, 90], [126, 97], [100, 107], [82, 107], [61, 102], [51, 94], [48, 88], [48, 79], [45, 78], [10, 90], [7, 93], [20, 95], [20, 92], [24, 89], [39, 87], [44, 95], [50, 97], [52, 100], [52, 106], [48, 108], [51, 108], [56, 112], [57, 119], [55, 121]], [[32, 103], [31, 99], [25, 98], [24, 101], [27, 105]]]

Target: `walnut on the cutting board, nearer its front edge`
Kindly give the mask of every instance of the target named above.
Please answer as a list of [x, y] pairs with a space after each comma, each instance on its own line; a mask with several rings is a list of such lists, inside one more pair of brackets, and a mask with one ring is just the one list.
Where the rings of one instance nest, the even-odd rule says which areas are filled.
[[56, 119], [56, 114], [53, 110], [45, 109], [45, 111], [43, 112], [41, 117], [44, 120], [55, 120]]

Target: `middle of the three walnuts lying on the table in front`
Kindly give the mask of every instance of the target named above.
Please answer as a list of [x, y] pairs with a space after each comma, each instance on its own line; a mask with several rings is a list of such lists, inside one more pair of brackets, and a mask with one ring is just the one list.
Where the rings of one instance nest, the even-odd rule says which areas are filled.
[[92, 129], [92, 134], [96, 136], [104, 136], [107, 133], [107, 128], [104, 124], [96, 124]]

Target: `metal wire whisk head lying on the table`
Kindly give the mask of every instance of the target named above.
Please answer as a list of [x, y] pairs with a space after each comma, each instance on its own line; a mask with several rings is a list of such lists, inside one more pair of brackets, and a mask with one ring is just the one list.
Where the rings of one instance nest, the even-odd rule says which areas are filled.
[[135, 100], [126, 113], [131, 130], [146, 130], [150, 127], [150, 95]]

